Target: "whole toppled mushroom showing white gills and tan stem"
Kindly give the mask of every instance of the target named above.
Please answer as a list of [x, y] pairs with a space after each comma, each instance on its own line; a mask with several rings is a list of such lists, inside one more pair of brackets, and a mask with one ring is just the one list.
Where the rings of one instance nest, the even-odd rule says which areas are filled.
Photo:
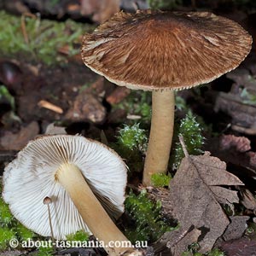
[[[99, 201], [112, 215], [119, 215], [124, 211], [125, 185], [123, 160], [102, 143], [81, 136], [44, 136], [28, 143], [6, 166], [3, 200], [27, 228], [51, 236], [43, 204], [50, 198], [55, 239], [77, 230], [91, 231], [109, 255], [123, 255], [137, 251]], [[109, 247], [113, 241], [126, 243]]]

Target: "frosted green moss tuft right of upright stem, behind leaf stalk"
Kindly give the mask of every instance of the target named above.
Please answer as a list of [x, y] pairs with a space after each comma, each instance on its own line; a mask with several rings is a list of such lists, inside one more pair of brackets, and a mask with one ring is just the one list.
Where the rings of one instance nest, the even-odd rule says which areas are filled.
[[[205, 138], [201, 135], [201, 125], [195, 119], [195, 116], [189, 111], [184, 119], [180, 121], [178, 136], [183, 136], [184, 143], [189, 154], [201, 154], [201, 147]], [[183, 148], [179, 142], [176, 143], [174, 154], [172, 156], [173, 168], [177, 169], [184, 157]]]

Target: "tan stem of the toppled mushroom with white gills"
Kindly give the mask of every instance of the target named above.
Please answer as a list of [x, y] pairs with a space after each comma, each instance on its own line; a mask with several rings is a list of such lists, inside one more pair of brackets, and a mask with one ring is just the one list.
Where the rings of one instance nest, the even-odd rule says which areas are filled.
[[104, 243], [108, 255], [124, 255], [134, 251], [131, 241], [122, 234], [112, 219], [109, 218], [108, 213], [96, 199], [77, 166], [64, 164], [58, 169], [55, 177], [66, 189], [74, 205], [78, 208], [84, 223], [87, 224], [100, 244]]

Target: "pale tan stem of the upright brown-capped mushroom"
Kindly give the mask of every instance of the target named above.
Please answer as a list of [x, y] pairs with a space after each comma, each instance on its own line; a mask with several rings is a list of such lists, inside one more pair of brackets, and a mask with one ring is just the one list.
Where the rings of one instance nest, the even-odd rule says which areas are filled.
[[146, 155], [143, 184], [151, 185], [151, 175], [166, 173], [174, 124], [175, 99], [173, 90], [152, 92], [152, 119]]

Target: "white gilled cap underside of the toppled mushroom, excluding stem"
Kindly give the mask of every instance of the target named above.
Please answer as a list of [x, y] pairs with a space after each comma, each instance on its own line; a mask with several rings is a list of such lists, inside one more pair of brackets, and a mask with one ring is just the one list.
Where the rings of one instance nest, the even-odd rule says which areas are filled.
[[81, 136], [39, 137], [28, 143], [3, 173], [3, 200], [15, 218], [39, 235], [51, 235], [45, 198], [51, 201], [56, 239], [65, 239], [78, 230], [90, 232], [66, 190], [55, 179], [55, 172], [65, 163], [79, 167], [108, 212], [124, 211], [127, 170], [118, 154]]

